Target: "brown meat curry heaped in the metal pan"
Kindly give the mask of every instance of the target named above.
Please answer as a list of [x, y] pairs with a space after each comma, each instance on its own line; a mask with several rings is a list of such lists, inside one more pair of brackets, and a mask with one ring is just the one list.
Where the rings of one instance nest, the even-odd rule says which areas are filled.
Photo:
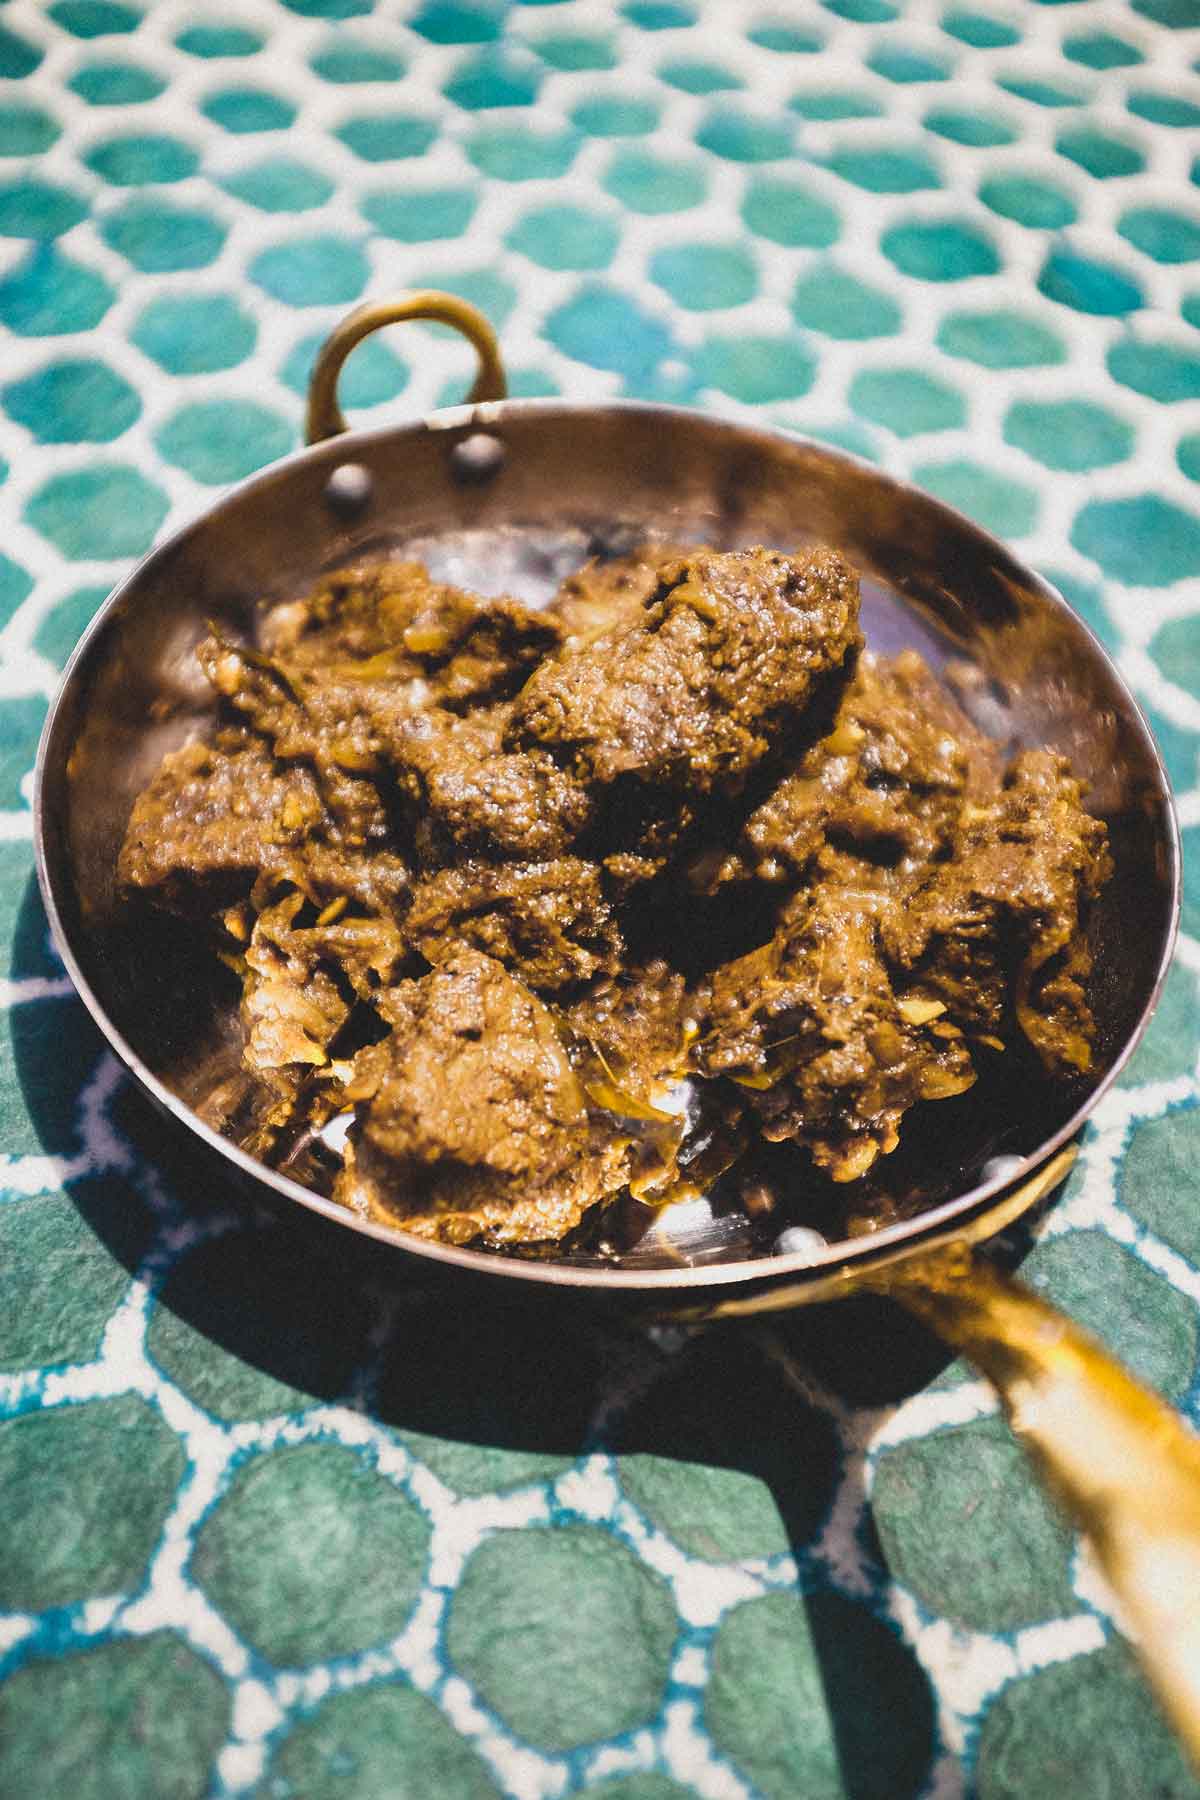
[[646, 547], [542, 610], [378, 562], [196, 655], [218, 727], [139, 797], [126, 904], [239, 983], [209, 1123], [369, 1219], [779, 1215], [790, 1147], [853, 1220], [912, 1109], [1088, 1067], [1105, 826], [864, 646], [835, 551]]

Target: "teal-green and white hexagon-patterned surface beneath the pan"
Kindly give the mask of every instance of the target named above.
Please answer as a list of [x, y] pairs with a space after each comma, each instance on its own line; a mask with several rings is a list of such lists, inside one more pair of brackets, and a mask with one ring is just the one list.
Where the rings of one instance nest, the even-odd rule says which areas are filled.
[[[29, 815], [104, 592], [299, 443], [367, 293], [479, 301], [516, 392], [918, 481], [1177, 787], [1180, 954], [1025, 1273], [1200, 1418], [1198, 128], [1196, 0], [4, 7], [0, 1793], [1200, 1795], [970, 1370], [865, 1303], [457, 1316], [212, 1192], [72, 999]], [[394, 333], [344, 400], [468, 378]]]

